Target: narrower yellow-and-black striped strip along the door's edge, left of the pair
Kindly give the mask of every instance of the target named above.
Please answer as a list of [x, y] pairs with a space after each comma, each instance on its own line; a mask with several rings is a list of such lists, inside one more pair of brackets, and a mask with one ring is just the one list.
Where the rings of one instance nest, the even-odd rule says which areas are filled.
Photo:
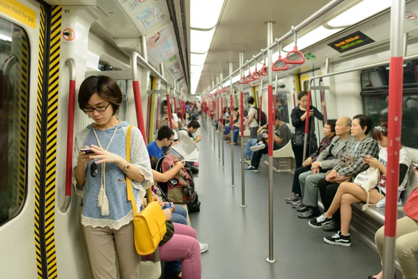
[[[42, 255], [40, 247], [40, 153], [42, 134], [42, 84], [45, 42], [45, 7], [40, 7], [39, 54], [38, 54], [38, 98], [36, 105], [36, 165], [35, 165], [35, 250], [38, 279], [43, 278]], [[42, 217], [43, 218], [43, 217]]]

